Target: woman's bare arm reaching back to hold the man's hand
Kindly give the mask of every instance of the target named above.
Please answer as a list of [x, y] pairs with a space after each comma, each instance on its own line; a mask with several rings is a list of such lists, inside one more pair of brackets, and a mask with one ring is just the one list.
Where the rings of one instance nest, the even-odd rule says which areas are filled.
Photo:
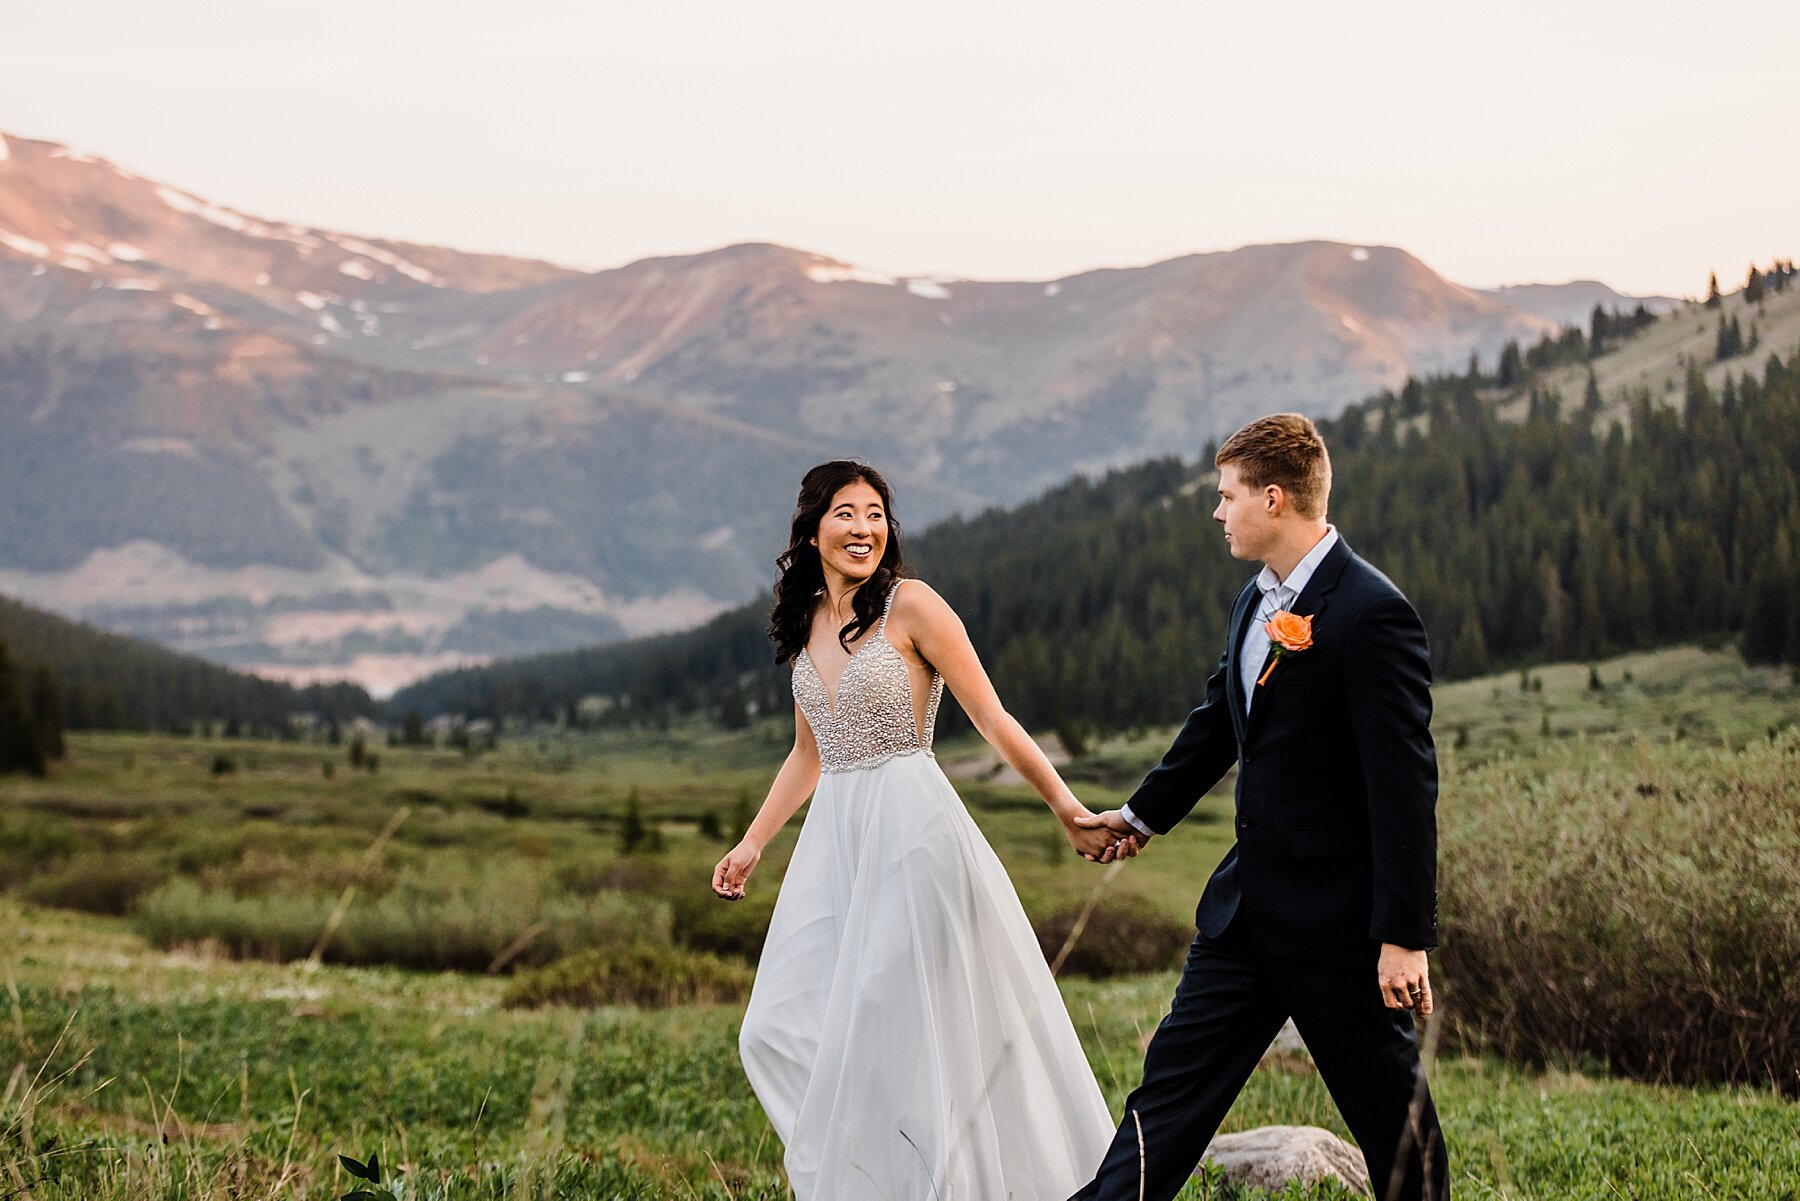
[[[938, 596], [931, 585], [913, 580], [895, 596], [893, 618], [900, 623], [900, 634], [913, 645], [913, 650], [938, 668], [938, 675], [949, 684], [976, 731], [1044, 798], [1049, 812], [1057, 816], [1069, 835], [1069, 844], [1091, 859], [1098, 859], [1111, 848], [1114, 839], [1109, 830], [1076, 825], [1076, 819], [1089, 817], [1091, 810], [1075, 798], [1075, 792], [1044, 756], [1042, 747], [1001, 704], [994, 682], [981, 666], [981, 657], [968, 641], [963, 619], [956, 616], [949, 601]], [[893, 621], [889, 628], [893, 628]]]

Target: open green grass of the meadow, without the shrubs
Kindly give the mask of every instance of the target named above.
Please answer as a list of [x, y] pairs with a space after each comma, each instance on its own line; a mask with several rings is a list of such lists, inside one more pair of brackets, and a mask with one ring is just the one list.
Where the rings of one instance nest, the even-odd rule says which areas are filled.
[[[1510, 675], [1438, 690], [1447, 821], [1460, 789], [1534, 780], [1584, 747], [1667, 751], [1679, 769], [1690, 751], [1724, 754], [1800, 720], [1787, 675], [1730, 652], [1636, 655], [1598, 675], [1598, 691], [1586, 664], [1534, 672], [1525, 688]], [[1076, 790], [1116, 803], [1166, 738], [1102, 744], [1069, 769]], [[473, 922], [452, 951], [486, 954], [482, 940], [504, 936], [500, 972], [335, 965], [329, 947], [322, 965], [205, 940], [158, 947], [146, 935], [167, 931], [144, 909], [178, 877], [220, 900], [333, 909], [347, 895], [340, 929], [353, 931], [355, 915], [412, 888], [473, 911], [508, 895], [524, 898], [520, 915], [580, 902], [612, 926], [668, 922], [680, 936], [706, 917], [684, 906], [706, 900], [725, 846], [702, 828], [729, 837], [740, 796], [758, 799], [783, 753], [774, 727], [545, 733], [468, 758], [383, 747], [367, 772], [342, 747], [77, 736], [49, 780], [0, 783], [0, 1197], [337, 1196], [351, 1181], [335, 1152], [373, 1149], [405, 1165], [409, 1197], [785, 1197], [779, 1145], [736, 1062], [736, 1007], [506, 1008], [504, 969], [538, 942], [515, 947], [524, 931]], [[954, 767], [979, 747], [941, 753]], [[216, 774], [220, 756], [230, 769]], [[959, 787], [1033, 915], [1100, 880], [1035, 798]], [[621, 853], [634, 796], [661, 830], [657, 853]], [[1192, 913], [1229, 841], [1228, 810], [1229, 783], [1109, 888]], [[754, 880], [763, 898], [790, 844], [792, 830]], [[130, 871], [108, 875], [121, 862]], [[358, 933], [371, 954], [378, 935]], [[616, 935], [545, 922], [536, 940]], [[1170, 971], [1064, 981], [1114, 1111], [1172, 985]], [[1613, 1079], [1604, 1062], [1458, 1055], [1435, 1064], [1435, 1089], [1460, 1196], [1800, 1197], [1800, 1106], [1769, 1086], [1669, 1088]], [[1294, 1061], [1265, 1064], [1228, 1127], [1271, 1122], [1341, 1133]]]

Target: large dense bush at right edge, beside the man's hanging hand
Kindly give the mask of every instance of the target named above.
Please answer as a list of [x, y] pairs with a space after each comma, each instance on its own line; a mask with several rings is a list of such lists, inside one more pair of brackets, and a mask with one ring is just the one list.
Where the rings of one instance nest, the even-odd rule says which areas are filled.
[[1444, 1016], [1526, 1062], [1800, 1093], [1800, 733], [1555, 744], [1442, 826]]

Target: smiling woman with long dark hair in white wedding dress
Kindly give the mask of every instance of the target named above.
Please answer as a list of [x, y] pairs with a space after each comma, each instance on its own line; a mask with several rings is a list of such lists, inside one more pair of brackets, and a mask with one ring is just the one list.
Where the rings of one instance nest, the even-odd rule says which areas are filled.
[[1076, 825], [1089, 810], [1001, 706], [961, 619], [904, 578], [878, 472], [806, 472], [776, 564], [794, 751], [713, 891], [743, 897], [812, 796], [738, 1039], [794, 1196], [1067, 1197], [1112, 1120], [1012, 880], [932, 758], [943, 684], [1076, 852], [1100, 859], [1114, 835]]

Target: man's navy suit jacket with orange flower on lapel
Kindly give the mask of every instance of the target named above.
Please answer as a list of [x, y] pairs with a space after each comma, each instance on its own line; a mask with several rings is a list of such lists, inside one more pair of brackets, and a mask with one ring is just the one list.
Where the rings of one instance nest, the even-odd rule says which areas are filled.
[[1238, 594], [1206, 700], [1138, 785], [1132, 814], [1166, 834], [1238, 763], [1237, 846], [1201, 897], [1202, 936], [1242, 911], [1282, 956], [1363, 963], [1384, 942], [1431, 949], [1438, 762], [1426, 628], [1339, 537], [1291, 605], [1312, 616], [1312, 646], [1282, 659], [1246, 713], [1238, 650], [1260, 598], [1255, 580]]

